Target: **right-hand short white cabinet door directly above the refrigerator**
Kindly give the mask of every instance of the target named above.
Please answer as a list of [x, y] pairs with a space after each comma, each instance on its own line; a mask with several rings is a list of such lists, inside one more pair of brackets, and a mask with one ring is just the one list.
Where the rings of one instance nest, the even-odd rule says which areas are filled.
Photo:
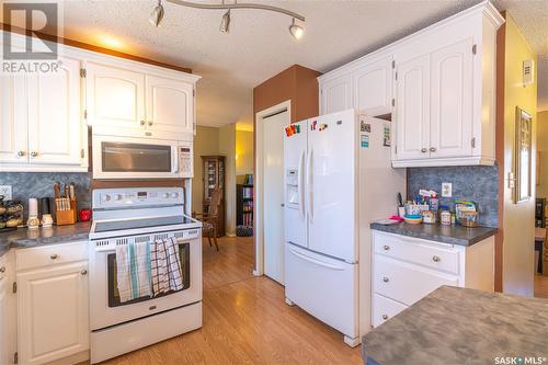
[[354, 106], [359, 113], [377, 116], [392, 112], [392, 56], [354, 71]]

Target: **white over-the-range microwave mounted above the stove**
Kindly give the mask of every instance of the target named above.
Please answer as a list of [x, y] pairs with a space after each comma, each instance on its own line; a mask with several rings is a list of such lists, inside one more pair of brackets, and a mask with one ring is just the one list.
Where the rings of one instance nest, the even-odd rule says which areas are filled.
[[185, 179], [193, 176], [192, 141], [92, 137], [93, 179]]

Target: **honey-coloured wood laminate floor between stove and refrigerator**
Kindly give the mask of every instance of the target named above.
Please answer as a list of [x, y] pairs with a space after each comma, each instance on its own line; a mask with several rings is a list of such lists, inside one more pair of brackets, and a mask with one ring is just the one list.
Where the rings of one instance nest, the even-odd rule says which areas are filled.
[[204, 327], [103, 364], [363, 364], [359, 347], [284, 301], [284, 288], [252, 275], [250, 238], [203, 246]]

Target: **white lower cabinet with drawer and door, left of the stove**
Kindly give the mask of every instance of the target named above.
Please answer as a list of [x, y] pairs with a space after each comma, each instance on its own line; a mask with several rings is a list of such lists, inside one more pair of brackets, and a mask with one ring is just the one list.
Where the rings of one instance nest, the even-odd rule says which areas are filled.
[[19, 364], [73, 364], [89, 357], [85, 243], [18, 252], [23, 267], [16, 273]]

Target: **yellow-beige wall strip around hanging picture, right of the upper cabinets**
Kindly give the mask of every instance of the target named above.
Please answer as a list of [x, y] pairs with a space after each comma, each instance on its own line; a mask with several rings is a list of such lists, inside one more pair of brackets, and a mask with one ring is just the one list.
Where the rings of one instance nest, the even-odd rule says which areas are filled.
[[[504, 109], [503, 109], [503, 139], [496, 144], [503, 148], [504, 158], [499, 159], [500, 173], [506, 182], [509, 173], [514, 172], [514, 140], [516, 106], [530, 115], [536, 115], [537, 83], [526, 87], [522, 83], [522, 67], [526, 59], [534, 59], [536, 55], [530, 49], [527, 39], [509, 13], [505, 14], [504, 26]], [[536, 118], [533, 119], [533, 167], [536, 161]], [[501, 127], [501, 126], [500, 126]], [[535, 182], [535, 169], [533, 169]], [[502, 218], [502, 289], [504, 293], [522, 296], [534, 294], [534, 241], [535, 241], [535, 183], [532, 184], [533, 197], [514, 204], [513, 189], [507, 183], [502, 184], [500, 191], [503, 204]]]

